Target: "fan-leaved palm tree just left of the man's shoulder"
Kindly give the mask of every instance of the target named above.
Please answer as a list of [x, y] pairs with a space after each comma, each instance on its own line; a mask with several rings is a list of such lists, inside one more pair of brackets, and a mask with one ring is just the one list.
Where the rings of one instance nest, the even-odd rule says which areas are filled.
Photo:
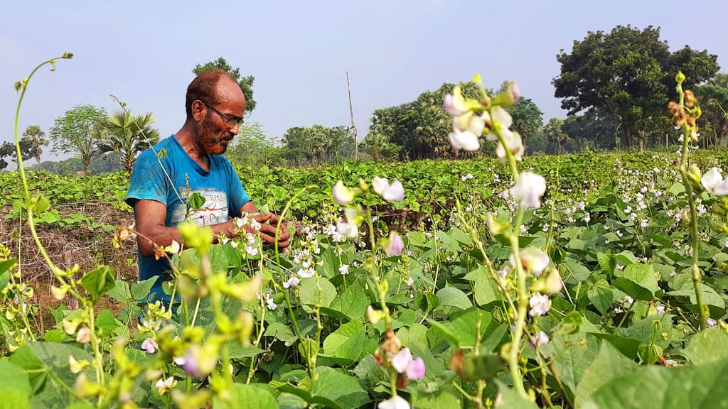
[[151, 112], [132, 116], [127, 111], [115, 111], [100, 126], [94, 127], [92, 136], [100, 141], [100, 153], [116, 153], [124, 169], [131, 172], [136, 156], [159, 142], [159, 131], [151, 127], [154, 122]]

